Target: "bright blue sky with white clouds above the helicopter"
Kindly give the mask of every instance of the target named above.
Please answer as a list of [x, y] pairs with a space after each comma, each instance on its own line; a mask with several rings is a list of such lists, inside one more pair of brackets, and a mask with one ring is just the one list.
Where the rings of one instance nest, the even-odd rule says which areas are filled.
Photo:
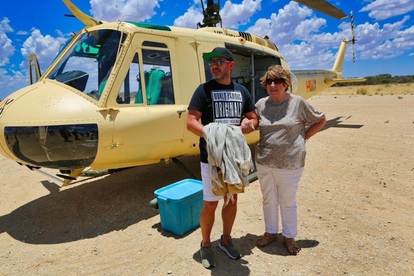
[[[72, 0], [84, 13], [196, 28], [200, 0]], [[217, 0], [215, 0], [217, 2]], [[348, 44], [344, 77], [388, 73], [414, 75], [414, 0], [328, 0], [354, 14], [356, 64]], [[292, 70], [330, 69], [341, 40], [351, 39], [350, 19], [334, 19], [289, 0], [221, 0], [223, 27], [268, 35]], [[206, 1], [205, 1], [206, 6]], [[27, 56], [35, 52], [43, 72], [60, 43], [83, 24], [65, 17], [61, 0], [3, 0], [0, 10], [0, 99], [27, 86]], [[8, 8], [4, 8], [8, 7]]]

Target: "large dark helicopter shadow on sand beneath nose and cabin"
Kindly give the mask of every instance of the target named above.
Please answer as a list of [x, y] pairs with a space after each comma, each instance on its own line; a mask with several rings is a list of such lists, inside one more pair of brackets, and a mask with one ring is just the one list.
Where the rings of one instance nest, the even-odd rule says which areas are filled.
[[[192, 172], [200, 172], [199, 156], [180, 160]], [[126, 229], [159, 214], [149, 205], [155, 190], [188, 178], [173, 162], [161, 161], [62, 190], [41, 181], [50, 194], [0, 216], [0, 233], [30, 244], [56, 244]]]

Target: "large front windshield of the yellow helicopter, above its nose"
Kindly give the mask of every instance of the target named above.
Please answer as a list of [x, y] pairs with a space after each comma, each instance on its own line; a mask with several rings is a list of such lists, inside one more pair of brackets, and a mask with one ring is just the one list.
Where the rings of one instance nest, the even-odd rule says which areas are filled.
[[99, 100], [100, 89], [103, 89], [115, 64], [120, 40], [123, 41], [125, 37], [115, 30], [98, 30], [80, 35], [46, 77]]

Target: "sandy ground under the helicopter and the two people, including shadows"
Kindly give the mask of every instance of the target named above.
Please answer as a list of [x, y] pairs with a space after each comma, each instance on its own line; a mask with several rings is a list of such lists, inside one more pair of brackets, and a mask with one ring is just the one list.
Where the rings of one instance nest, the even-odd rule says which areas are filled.
[[[239, 197], [233, 238], [242, 259], [217, 246], [219, 207], [216, 267], [207, 270], [200, 228], [176, 236], [149, 206], [155, 190], [189, 178], [173, 162], [59, 189], [1, 156], [0, 275], [414, 275], [414, 95], [310, 102], [328, 123], [307, 142], [297, 256], [281, 239], [256, 246], [264, 231], [258, 181]], [[198, 156], [180, 160], [199, 175]]]

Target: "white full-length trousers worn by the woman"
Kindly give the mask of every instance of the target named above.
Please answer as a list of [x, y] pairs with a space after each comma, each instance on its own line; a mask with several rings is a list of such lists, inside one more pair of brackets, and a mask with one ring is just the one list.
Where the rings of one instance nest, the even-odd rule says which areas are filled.
[[263, 217], [265, 231], [279, 231], [279, 208], [282, 235], [295, 238], [297, 235], [296, 191], [303, 169], [283, 170], [256, 163], [261, 193], [263, 195]]

